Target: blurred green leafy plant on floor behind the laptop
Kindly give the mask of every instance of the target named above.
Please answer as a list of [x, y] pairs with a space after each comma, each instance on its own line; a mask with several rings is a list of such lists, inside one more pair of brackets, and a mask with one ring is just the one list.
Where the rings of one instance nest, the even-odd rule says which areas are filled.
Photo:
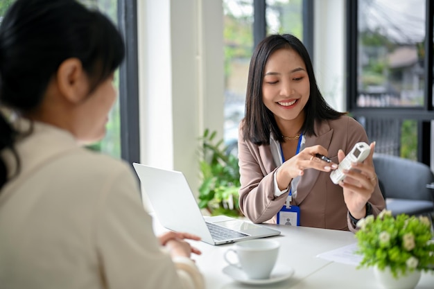
[[227, 153], [223, 139], [215, 141], [216, 132], [205, 130], [201, 137], [199, 207], [211, 216], [242, 216], [238, 206], [240, 173], [238, 158]]

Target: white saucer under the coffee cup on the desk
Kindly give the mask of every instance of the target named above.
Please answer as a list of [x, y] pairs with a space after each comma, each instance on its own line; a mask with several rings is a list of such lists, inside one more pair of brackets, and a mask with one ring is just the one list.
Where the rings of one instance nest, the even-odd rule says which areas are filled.
[[229, 277], [232, 277], [235, 281], [245, 284], [270, 284], [283, 281], [293, 276], [294, 269], [284, 264], [276, 264], [268, 279], [250, 279], [245, 272], [233, 265], [227, 265], [223, 268], [223, 273], [229, 275]]

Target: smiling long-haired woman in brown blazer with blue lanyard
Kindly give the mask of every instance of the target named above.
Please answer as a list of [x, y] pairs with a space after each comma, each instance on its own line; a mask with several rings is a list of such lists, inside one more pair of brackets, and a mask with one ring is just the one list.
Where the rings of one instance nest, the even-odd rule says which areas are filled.
[[297, 37], [270, 35], [258, 44], [238, 137], [245, 216], [257, 223], [356, 231], [359, 219], [385, 207], [372, 163], [375, 143], [339, 184], [330, 172], [361, 141], [367, 142], [363, 127], [322, 97]]

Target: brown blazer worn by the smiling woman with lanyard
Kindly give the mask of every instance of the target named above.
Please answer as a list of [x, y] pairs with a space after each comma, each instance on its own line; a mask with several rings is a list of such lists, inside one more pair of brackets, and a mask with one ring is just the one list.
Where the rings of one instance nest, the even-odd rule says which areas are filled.
[[[241, 211], [252, 222], [276, 222], [276, 214], [284, 206], [288, 193], [275, 197], [274, 173], [277, 165], [270, 145], [257, 146], [243, 140], [242, 126], [238, 137], [238, 158], [241, 173], [239, 204]], [[328, 157], [338, 164], [338, 150], [347, 154], [355, 143], [365, 141], [367, 135], [362, 125], [349, 116], [315, 123], [316, 137], [306, 137], [305, 148], [321, 145], [327, 148]], [[297, 186], [297, 195], [291, 204], [300, 206], [300, 225], [327, 229], [355, 231], [349, 220], [342, 188], [331, 182], [330, 173], [304, 170]], [[377, 183], [369, 200], [376, 216], [385, 208], [385, 201]]]

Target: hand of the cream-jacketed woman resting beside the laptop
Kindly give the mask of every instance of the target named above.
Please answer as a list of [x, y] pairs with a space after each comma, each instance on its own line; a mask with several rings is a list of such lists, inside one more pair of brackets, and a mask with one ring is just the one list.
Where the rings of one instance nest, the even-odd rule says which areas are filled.
[[200, 240], [199, 236], [189, 233], [169, 231], [160, 235], [158, 238], [159, 242], [168, 249], [172, 257], [186, 256], [187, 258], [190, 258], [191, 253], [197, 255], [202, 254], [199, 249], [191, 247], [191, 245], [184, 240]]

